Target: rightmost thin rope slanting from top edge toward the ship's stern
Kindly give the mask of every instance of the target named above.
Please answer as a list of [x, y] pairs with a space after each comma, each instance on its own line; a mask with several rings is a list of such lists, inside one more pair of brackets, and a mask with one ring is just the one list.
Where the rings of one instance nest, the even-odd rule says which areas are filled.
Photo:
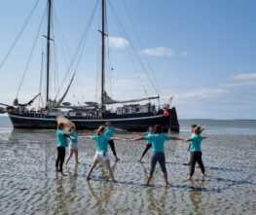
[[[127, 5], [127, 3], [126, 3], [126, 0], [123, 0], [123, 2], [124, 2], [124, 6], [125, 6], [125, 9], [126, 9], [126, 12], [127, 12], [127, 14], [128, 14], [128, 18], [129, 18], [130, 23], [131, 23], [131, 27], [132, 27], [132, 29], [133, 29], [133, 31], [134, 31], [134, 34], [135, 34], [135, 36], [136, 36], [136, 38], [137, 38], [137, 41], [138, 41], [138, 44], [139, 44], [139, 46], [140, 46], [140, 50], [144, 50], [144, 46], [143, 46], [143, 44], [142, 44], [142, 42], [141, 42], [141, 39], [140, 39], [140, 37], [139, 37], [139, 34], [138, 34], [137, 30], [136, 30], [134, 21], [133, 21], [132, 17], [130, 16], [130, 13], [129, 13], [129, 10], [128, 10], [128, 5]], [[151, 76], [153, 77], [153, 81], [156, 83], [156, 88], [157, 88], [158, 91], [160, 92], [161, 97], [163, 98], [163, 100], [165, 100], [165, 97], [164, 97], [163, 92], [162, 92], [162, 90], [161, 90], [161, 88], [160, 88], [160, 85], [159, 85], [158, 80], [157, 80], [157, 78], [156, 78], [156, 76], [155, 76], [155, 73], [153, 72], [153, 69], [152, 69], [152, 66], [151, 66], [151, 64], [150, 64], [150, 62], [149, 62], [149, 60], [148, 60], [148, 57], [146, 56], [146, 54], [143, 54], [143, 55], [145, 56], [145, 61], [146, 61], [147, 65], [148, 65], [149, 71], [151, 72]]]

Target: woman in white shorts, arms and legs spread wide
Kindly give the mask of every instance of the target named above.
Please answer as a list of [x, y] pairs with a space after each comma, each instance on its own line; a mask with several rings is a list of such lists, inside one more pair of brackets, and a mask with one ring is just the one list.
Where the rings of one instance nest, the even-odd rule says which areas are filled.
[[87, 179], [90, 180], [91, 179], [91, 172], [93, 170], [93, 168], [96, 166], [96, 164], [99, 161], [104, 161], [107, 169], [109, 171], [109, 175], [112, 179], [112, 182], [116, 182], [116, 180], [114, 179], [111, 167], [110, 167], [110, 161], [109, 161], [109, 157], [108, 157], [108, 150], [107, 150], [107, 145], [109, 140], [123, 140], [122, 138], [119, 137], [110, 137], [108, 135], [104, 134], [105, 132], [105, 126], [101, 125], [98, 127], [97, 133], [96, 135], [93, 136], [81, 136], [81, 137], [85, 137], [87, 139], [92, 139], [95, 140], [97, 143], [96, 146], [96, 154], [94, 156], [93, 162], [91, 164], [90, 169], [88, 170], [88, 176]]

